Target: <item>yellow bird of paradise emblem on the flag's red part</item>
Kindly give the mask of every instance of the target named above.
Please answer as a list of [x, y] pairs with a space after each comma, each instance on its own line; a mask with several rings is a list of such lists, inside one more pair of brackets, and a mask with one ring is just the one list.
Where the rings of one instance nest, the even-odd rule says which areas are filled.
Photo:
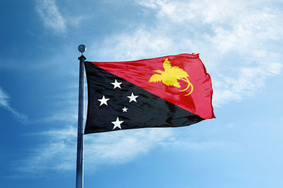
[[162, 70], [154, 70], [156, 73], [159, 74], [154, 74], [150, 77], [149, 82], [163, 82], [163, 84], [166, 84], [167, 86], [173, 85], [174, 87], [180, 88], [180, 83], [178, 80], [183, 80], [187, 82], [187, 87], [183, 90], [180, 90], [180, 92], [185, 92], [187, 89], [190, 88], [190, 92], [188, 94], [185, 94], [185, 96], [189, 95], [192, 93], [192, 90], [194, 89], [192, 83], [187, 77], [190, 77], [187, 75], [185, 70], [179, 67], [173, 67], [171, 63], [168, 61], [168, 58], [163, 62], [163, 68], [164, 71]]

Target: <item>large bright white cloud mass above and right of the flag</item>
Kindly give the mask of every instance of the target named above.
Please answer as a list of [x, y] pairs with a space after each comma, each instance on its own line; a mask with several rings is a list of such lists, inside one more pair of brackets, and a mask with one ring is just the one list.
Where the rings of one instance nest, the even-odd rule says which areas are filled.
[[215, 106], [250, 96], [268, 77], [281, 73], [283, 12], [276, 5], [241, 0], [137, 4], [155, 13], [156, 24], [105, 39], [102, 61], [111, 61], [106, 54], [122, 61], [200, 53], [213, 78]]

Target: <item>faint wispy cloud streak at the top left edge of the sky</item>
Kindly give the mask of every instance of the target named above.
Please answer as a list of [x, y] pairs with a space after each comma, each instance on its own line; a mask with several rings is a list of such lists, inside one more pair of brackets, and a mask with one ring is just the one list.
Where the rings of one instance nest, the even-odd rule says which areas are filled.
[[35, 9], [42, 18], [45, 27], [57, 33], [66, 32], [66, 20], [59, 12], [54, 0], [37, 0]]

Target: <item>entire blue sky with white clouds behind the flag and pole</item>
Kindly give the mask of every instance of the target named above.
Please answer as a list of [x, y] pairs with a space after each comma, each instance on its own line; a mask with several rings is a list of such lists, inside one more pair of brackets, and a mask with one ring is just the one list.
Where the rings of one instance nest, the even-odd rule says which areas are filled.
[[200, 53], [216, 119], [85, 136], [85, 187], [283, 187], [282, 1], [0, 1], [0, 187], [74, 187], [79, 61]]

